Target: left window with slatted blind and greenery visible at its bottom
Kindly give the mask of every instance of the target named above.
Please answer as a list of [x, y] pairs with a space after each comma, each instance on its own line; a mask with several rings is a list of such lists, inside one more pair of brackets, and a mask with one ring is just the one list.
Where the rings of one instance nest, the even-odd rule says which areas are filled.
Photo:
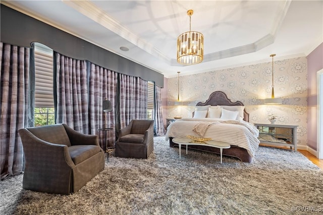
[[35, 45], [35, 126], [55, 124], [52, 50]]

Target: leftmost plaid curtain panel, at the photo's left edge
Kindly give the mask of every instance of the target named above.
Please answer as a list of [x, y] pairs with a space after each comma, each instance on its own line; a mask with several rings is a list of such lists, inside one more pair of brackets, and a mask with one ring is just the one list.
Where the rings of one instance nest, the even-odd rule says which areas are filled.
[[29, 48], [0, 43], [1, 179], [23, 171], [23, 146], [18, 130], [27, 127]]

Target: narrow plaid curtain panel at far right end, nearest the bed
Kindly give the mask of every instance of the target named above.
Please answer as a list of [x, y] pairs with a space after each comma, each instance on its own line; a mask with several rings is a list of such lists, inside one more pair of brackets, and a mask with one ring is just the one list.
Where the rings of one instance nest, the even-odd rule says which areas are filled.
[[154, 120], [157, 136], [164, 136], [165, 129], [163, 123], [163, 108], [161, 107], [161, 92], [160, 87], [155, 85], [155, 105], [154, 105]]

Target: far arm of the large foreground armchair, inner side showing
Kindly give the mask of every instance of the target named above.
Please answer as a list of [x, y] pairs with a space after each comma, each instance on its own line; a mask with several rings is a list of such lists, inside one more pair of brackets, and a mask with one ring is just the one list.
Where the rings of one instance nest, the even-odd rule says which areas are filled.
[[71, 142], [72, 146], [76, 146], [76, 145], [96, 145], [96, 146], [100, 146], [97, 135], [80, 133], [80, 132], [70, 128], [66, 124], [63, 124], [63, 126], [65, 127], [67, 135], [70, 138], [70, 142]]

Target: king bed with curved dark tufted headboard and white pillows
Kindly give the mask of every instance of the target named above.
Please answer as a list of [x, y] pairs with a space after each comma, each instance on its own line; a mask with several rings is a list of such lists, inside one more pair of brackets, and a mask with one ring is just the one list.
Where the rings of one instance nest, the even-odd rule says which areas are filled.
[[[206, 102], [196, 104], [193, 118], [178, 119], [170, 124], [166, 139], [170, 147], [178, 147], [173, 138], [187, 135], [223, 141], [231, 145], [230, 149], [223, 150], [224, 156], [251, 163], [259, 146], [258, 134], [257, 128], [249, 123], [244, 104], [231, 102], [224, 92], [216, 91]], [[219, 149], [207, 146], [189, 146], [189, 149], [220, 154]]]

